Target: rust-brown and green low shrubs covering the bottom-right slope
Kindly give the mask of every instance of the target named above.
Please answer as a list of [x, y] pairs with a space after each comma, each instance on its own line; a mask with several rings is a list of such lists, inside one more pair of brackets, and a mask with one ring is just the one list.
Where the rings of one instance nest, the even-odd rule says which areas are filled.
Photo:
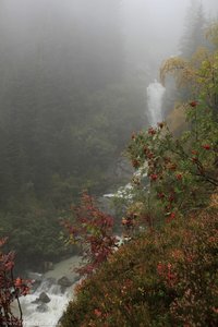
[[78, 286], [62, 326], [216, 326], [218, 215], [197, 215], [121, 246]]

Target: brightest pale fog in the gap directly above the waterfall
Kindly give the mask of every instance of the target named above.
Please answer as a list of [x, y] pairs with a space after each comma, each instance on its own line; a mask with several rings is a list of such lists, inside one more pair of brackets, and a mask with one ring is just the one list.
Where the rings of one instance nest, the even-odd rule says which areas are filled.
[[152, 75], [158, 75], [161, 61], [180, 55], [180, 41], [185, 31], [185, 17], [191, 4], [202, 3], [207, 17], [216, 17], [218, 1], [191, 0], [125, 0], [125, 41], [129, 64], [134, 68], [149, 68]]

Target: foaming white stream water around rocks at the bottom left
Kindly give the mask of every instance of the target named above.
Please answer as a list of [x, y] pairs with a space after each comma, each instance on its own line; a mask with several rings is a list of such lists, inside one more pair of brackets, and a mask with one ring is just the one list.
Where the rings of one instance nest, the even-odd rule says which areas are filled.
[[[55, 265], [55, 269], [46, 272], [43, 282], [37, 290], [26, 296], [21, 298], [24, 327], [56, 327], [63, 311], [71, 299], [73, 299], [75, 282], [64, 291], [57, 280], [65, 276], [72, 282], [77, 275], [73, 271], [78, 267], [81, 257], [73, 256]], [[36, 303], [41, 292], [45, 292], [50, 302]], [[35, 302], [35, 303], [34, 303]], [[16, 308], [14, 308], [16, 312]]]

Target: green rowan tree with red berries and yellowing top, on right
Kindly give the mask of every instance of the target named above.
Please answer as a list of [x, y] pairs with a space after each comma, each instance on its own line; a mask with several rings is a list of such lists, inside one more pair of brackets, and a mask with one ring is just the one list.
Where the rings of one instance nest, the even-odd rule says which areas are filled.
[[[128, 153], [133, 167], [141, 171], [133, 181], [135, 201], [141, 204], [135, 210], [140, 221], [146, 217], [154, 226], [159, 223], [160, 209], [169, 221], [204, 207], [218, 186], [217, 64], [217, 51], [204, 50], [191, 61], [169, 59], [161, 68], [162, 78], [174, 73], [182, 83], [190, 81], [196, 99], [179, 107], [185, 112], [187, 125], [178, 138], [165, 123], [132, 136]], [[149, 196], [145, 173], [150, 180]]]

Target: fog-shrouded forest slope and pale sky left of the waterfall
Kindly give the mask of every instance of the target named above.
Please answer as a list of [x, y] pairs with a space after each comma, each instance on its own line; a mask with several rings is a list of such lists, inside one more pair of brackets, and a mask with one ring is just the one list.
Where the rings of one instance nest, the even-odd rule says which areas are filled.
[[[0, 1], [0, 231], [25, 265], [62, 253], [59, 210], [82, 189], [117, 180], [146, 125], [146, 87], [190, 33], [190, 3]], [[202, 3], [206, 17], [218, 10]]]

